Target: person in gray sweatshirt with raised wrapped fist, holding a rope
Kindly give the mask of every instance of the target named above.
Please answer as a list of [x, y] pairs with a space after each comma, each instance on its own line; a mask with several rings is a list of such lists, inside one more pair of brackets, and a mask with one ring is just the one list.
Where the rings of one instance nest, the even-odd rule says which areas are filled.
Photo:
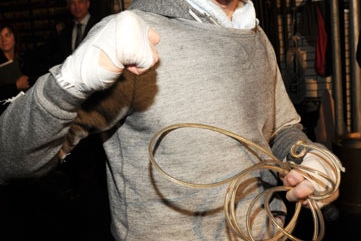
[[[86, 131], [74, 128], [82, 121]], [[308, 197], [330, 186], [284, 169], [299, 141], [318, 149], [295, 160], [338, 178], [330, 152], [302, 131], [246, 0], [133, 0], [13, 100], [0, 123], [2, 185], [61, 165], [70, 134], [102, 133], [117, 241], [279, 237], [283, 199], [257, 195], [281, 181], [288, 201], [312, 207]], [[278, 163], [270, 160], [282, 170], [262, 166], [228, 186], [254, 165]], [[320, 207], [337, 198], [337, 180], [334, 189]]]

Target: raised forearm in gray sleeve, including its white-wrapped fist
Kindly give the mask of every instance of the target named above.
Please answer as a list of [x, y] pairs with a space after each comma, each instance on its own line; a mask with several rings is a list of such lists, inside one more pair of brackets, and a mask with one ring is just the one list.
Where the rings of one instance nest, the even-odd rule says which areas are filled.
[[55, 157], [84, 100], [113, 85], [125, 66], [142, 74], [158, 61], [159, 35], [132, 12], [104, 18], [88, 36], [0, 116], [0, 184], [57, 166]]

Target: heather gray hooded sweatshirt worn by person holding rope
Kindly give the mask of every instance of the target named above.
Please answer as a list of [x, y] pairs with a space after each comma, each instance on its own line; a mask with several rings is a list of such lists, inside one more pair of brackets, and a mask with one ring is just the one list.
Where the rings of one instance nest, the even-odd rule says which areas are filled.
[[[272, 45], [259, 26], [219, 26], [185, 0], [133, 0], [130, 11], [160, 34], [160, 60], [146, 74], [121, 80], [127, 84], [120, 96], [126, 93], [127, 101], [103, 133], [113, 235], [117, 241], [242, 240], [227, 225], [227, 184], [189, 188], [171, 182], [150, 164], [148, 145], [160, 129], [177, 123], [228, 130], [279, 160], [296, 141], [309, 142]], [[83, 102], [62, 89], [50, 71], [10, 104], [0, 117], [0, 183], [41, 176], [59, 165], [54, 156]], [[170, 131], [154, 152], [168, 174], [198, 184], [224, 180], [270, 159], [199, 128]], [[244, 232], [249, 203], [277, 183], [277, 173], [268, 170], [244, 178], [234, 205]], [[252, 233], [264, 238], [273, 228], [264, 206], [254, 206]], [[283, 212], [283, 207], [272, 199], [272, 211]]]

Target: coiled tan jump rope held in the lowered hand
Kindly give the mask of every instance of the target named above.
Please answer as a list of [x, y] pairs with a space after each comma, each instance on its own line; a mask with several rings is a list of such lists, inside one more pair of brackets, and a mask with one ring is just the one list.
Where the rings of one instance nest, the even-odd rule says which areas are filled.
[[[173, 130], [179, 129], [179, 128], [200, 128], [200, 129], [208, 129], [211, 131], [218, 132], [220, 134], [226, 135], [228, 137], [231, 137], [231, 138], [239, 141], [244, 146], [252, 147], [255, 150], [260, 151], [261, 153], [268, 156], [269, 159], [262, 160], [261, 162], [243, 170], [242, 172], [234, 175], [233, 177], [230, 177], [230, 178], [218, 181], [218, 182], [199, 184], [199, 183], [190, 183], [190, 182], [182, 181], [180, 179], [172, 177], [166, 171], [164, 171], [158, 165], [158, 163], [155, 161], [155, 158], [154, 158], [154, 155], [156, 152], [155, 147], [157, 145], [159, 145], [159, 142], [161, 140], [160, 138], [162, 136], [168, 134], [170, 131], [173, 131]], [[304, 175], [306, 178], [309, 178], [316, 183], [325, 183], [325, 181], [326, 181], [326, 183], [328, 185], [324, 191], [315, 192], [313, 195], [309, 196], [307, 199], [308, 207], [311, 210], [313, 221], [314, 221], [314, 233], [313, 233], [312, 240], [320, 241], [324, 237], [325, 224], [324, 224], [322, 212], [321, 212], [320, 208], [318, 207], [316, 201], [326, 199], [326, 198], [332, 196], [338, 190], [340, 181], [341, 181], [341, 171], [344, 171], [344, 168], [342, 167], [342, 164], [340, 163], [338, 158], [336, 156], [334, 156], [331, 152], [321, 149], [314, 145], [306, 144], [302, 141], [297, 142], [291, 148], [290, 154], [294, 158], [302, 158], [310, 150], [317, 150], [317, 151], [321, 152], [324, 156], [326, 156], [326, 158], [321, 157], [321, 160], [324, 161], [330, 167], [330, 169], [334, 173], [335, 181], [332, 180], [332, 178], [330, 178], [325, 173], [319, 172], [318, 170], [296, 164], [292, 161], [282, 162], [282, 161], [278, 160], [272, 153], [265, 150], [261, 146], [255, 144], [235, 133], [232, 133], [230, 131], [227, 131], [227, 130], [224, 130], [224, 129], [221, 129], [218, 127], [204, 125], [204, 124], [196, 124], [196, 123], [174, 124], [174, 125], [170, 125], [168, 127], [161, 129], [160, 131], [158, 131], [153, 136], [153, 138], [151, 139], [151, 141], [149, 143], [149, 158], [150, 158], [150, 162], [152, 163], [153, 167], [157, 171], [159, 171], [168, 180], [170, 180], [176, 184], [179, 184], [181, 186], [185, 186], [185, 187], [189, 187], [189, 188], [212, 188], [212, 187], [216, 187], [216, 186], [220, 186], [220, 185], [229, 183], [229, 186], [228, 186], [226, 194], [225, 194], [225, 199], [224, 199], [224, 211], [225, 211], [227, 224], [229, 225], [229, 227], [232, 229], [232, 231], [236, 235], [238, 235], [239, 237], [241, 237], [242, 239], [244, 239], [246, 241], [255, 241], [254, 237], [251, 234], [252, 228], [250, 225], [250, 216], [251, 216], [251, 211], [252, 211], [253, 206], [258, 201], [258, 199], [260, 199], [261, 197], [264, 197], [264, 202], [265, 202], [264, 205], [265, 205], [265, 209], [266, 209], [268, 217], [270, 218], [272, 224], [275, 225], [277, 227], [277, 229], [279, 230], [279, 232], [277, 232], [272, 238], [266, 239], [264, 241], [277, 241], [277, 240], [283, 240], [284, 238], [289, 238], [289, 239], [295, 240], [295, 241], [302, 241], [301, 239], [298, 239], [298, 238], [292, 236], [292, 234], [291, 234], [294, 227], [296, 226], [297, 218], [298, 218], [300, 210], [302, 208], [302, 201], [299, 201], [295, 204], [294, 214], [293, 214], [292, 218], [290, 219], [290, 221], [288, 222], [287, 226], [281, 227], [277, 223], [277, 221], [275, 220], [275, 217], [273, 216], [273, 214], [271, 212], [271, 209], [269, 207], [269, 202], [270, 202], [271, 197], [275, 193], [289, 191], [291, 189], [291, 187], [278, 186], [278, 187], [273, 187], [273, 188], [269, 188], [269, 189], [265, 190], [264, 192], [258, 194], [254, 198], [254, 200], [251, 202], [250, 206], [248, 207], [247, 215], [246, 215], [246, 220], [247, 220], [246, 221], [246, 228], [247, 228], [246, 231], [247, 231], [247, 233], [245, 233], [244, 231], [241, 230], [239, 224], [237, 223], [237, 217], [236, 217], [236, 212], [235, 212], [236, 193], [237, 193], [237, 190], [241, 186], [244, 176], [246, 176], [250, 172], [254, 172], [254, 171], [260, 170], [260, 169], [273, 170], [273, 171], [278, 172], [280, 175], [284, 176], [290, 170], [295, 169], [298, 172], [300, 172], [302, 175]]]

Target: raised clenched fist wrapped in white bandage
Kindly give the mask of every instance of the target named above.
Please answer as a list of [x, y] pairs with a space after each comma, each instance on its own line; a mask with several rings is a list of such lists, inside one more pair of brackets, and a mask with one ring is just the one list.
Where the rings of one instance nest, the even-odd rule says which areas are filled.
[[124, 68], [142, 74], [158, 61], [159, 35], [135, 13], [123, 11], [95, 25], [63, 63], [59, 84], [82, 94], [112, 85]]

